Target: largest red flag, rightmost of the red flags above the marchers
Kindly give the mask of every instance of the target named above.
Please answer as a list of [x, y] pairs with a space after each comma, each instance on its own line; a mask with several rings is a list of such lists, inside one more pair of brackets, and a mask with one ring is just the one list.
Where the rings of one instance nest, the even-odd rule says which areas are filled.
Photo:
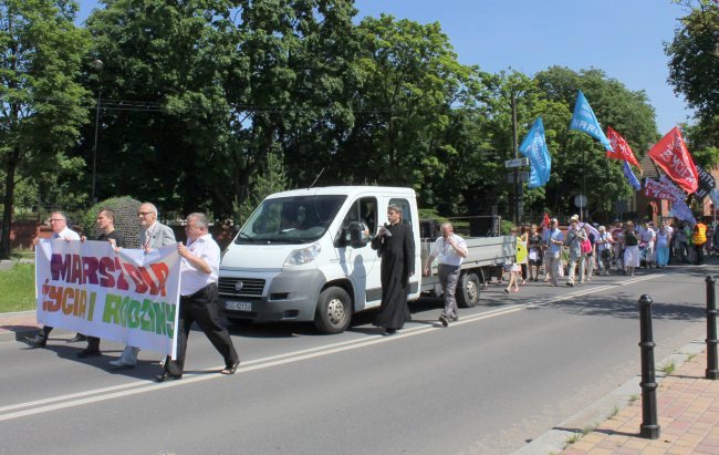
[[648, 155], [681, 189], [689, 194], [697, 190], [697, 167], [678, 127], [675, 126], [661, 141], [654, 144]]

